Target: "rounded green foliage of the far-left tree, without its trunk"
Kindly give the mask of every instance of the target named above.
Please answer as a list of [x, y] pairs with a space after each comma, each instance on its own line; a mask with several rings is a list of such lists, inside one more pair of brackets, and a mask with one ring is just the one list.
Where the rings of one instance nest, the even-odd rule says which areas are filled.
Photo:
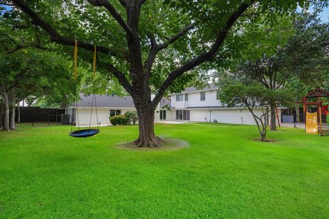
[[71, 64], [55, 53], [22, 49], [0, 55], [0, 82], [7, 90], [15, 89], [20, 100], [37, 96], [48, 103], [69, 104], [75, 96], [70, 75]]

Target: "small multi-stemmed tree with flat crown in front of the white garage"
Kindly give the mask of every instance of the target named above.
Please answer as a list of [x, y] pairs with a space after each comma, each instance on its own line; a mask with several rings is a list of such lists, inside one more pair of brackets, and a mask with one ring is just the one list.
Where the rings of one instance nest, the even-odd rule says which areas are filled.
[[[243, 84], [241, 82], [230, 84], [219, 90], [219, 99], [228, 107], [244, 106], [254, 117], [262, 142], [267, 142], [267, 118], [271, 107], [278, 105], [291, 105], [293, 96], [282, 90], [268, 90], [258, 83]], [[276, 101], [273, 101], [276, 100]], [[271, 106], [271, 101], [277, 105]], [[259, 110], [257, 113], [255, 110]]]

